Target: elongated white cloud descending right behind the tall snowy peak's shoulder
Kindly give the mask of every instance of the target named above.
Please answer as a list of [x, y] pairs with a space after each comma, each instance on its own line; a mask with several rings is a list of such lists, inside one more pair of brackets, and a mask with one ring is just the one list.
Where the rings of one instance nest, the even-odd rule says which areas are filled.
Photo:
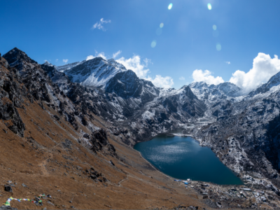
[[116, 62], [123, 64], [126, 69], [131, 69], [134, 71], [139, 78], [144, 78], [146, 80], [151, 81], [155, 86], [158, 87], [172, 87], [174, 85], [173, 79], [170, 76], [160, 76], [156, 75], [155, 78], [151, 78], [148, 76], [150, 69], [148, 69], [148, 64], [152, 63], [151, 59], [144, 59], [144, 64], [141, 63], [141, 57], [139, 55], [134, 55], [129, 59], [125, 59], [125, 57], [121, 57], [117, 59]]

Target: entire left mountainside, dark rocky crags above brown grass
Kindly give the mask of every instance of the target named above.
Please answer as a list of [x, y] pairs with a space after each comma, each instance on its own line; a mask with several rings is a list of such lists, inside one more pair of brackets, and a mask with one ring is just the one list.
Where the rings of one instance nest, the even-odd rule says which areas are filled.
[[[52, 196], [43, 200], [47, 209], [206, 207], [195, 192], [173, 186], [125, 146], [127, 133], [113, 134], [111, 123], [88, 109], [81, 116], [83, 109], [74, 103], [78, 96], [67, 97], [43, 66], [26, 56], [18, 49], [3, 55], [14, 68], [0, 57], [0, 182], [13, 188], [13, 193], [1, 190], [1, 203], [45, 193]], [[42, 209], [31, 202], [11, 205]]]

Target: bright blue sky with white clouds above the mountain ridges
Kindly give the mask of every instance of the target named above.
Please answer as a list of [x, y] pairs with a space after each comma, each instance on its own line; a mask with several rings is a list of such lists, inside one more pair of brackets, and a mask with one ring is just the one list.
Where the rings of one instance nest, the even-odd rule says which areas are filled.
[[[63, 59], [76, 62], [102, 52], [111, 58], [120, 50], [116, 59], [156, 85], [177, 89], [193, 80], [230, 80], [251, 90], [280, 71], [273, 59], [280, 55], [279, 8], [277, 0], [1, 0], [0, 52], [17, 47], [39, 63], [59, 66]], [[102, 27], [94, 29], [96, 24]], [[263, 74], [265, 79], [250, 80]]]

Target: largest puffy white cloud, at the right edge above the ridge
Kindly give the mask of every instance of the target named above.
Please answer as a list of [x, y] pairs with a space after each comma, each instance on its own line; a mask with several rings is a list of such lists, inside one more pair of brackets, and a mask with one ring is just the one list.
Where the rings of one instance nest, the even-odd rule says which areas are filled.
[[247, 73], [237, 70], [232, 73], [230, 83], [241, 87], [244, 92], [250, 92], [262, 83], [267, 83], [269, 78], [280, 71], [280, 59], [277, 55], [271, 58], [265, 53], [258, 53], [253, 59], [253, 68]]

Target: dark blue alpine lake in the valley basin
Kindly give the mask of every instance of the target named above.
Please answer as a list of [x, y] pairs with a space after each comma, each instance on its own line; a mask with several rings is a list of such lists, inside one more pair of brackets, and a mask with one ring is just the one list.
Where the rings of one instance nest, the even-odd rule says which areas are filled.
[[192, 179], [221, 185], [241, 185], [243, 182], [223, 165], [210, 148], [202, 147], [181, 130], [160, 134], [151, 141], [138, 143], [134, 149], [160, 172], [174, 179]]

